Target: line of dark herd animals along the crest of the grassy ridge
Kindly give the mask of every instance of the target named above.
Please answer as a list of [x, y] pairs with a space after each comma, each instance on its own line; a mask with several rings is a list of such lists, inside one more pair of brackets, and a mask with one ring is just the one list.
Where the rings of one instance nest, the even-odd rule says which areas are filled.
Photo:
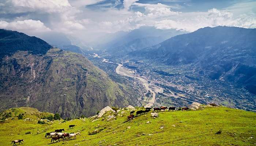
[[[161, 112], [161, 110], [165, 111], [166, 109], [167, 109], [167, 107], [163, 107], [163, 106], [155, 107], [155, 108], [153, 108], [153, 112]], [[173, 111], [175, 109], [176, 109], [176, 107], [169, 107], [168, 111], [171, 111], [171, 110]], [[189, 109], [188, 107], [182, 107], [182, 111], [184, 111], [184, 110], [188, 111], [188, 109]], [[150, 111], [151, 111], [151, 108], [147, 107], [146, 110], [144, 110], [144, 111], [143, 110], [137, 111], [136, 116], [141, 115], [141, 114], [147, 114]], [[130, 112], [130, 115], [127, 117], [128, 121], [134, 118], [133, 113], [135, 113], [135, 111]]]

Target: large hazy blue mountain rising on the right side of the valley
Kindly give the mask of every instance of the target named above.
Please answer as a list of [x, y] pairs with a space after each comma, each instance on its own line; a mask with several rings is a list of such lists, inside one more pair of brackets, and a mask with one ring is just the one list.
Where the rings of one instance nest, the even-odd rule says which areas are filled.
[[157, 59], [170, 65], [193, 64], [215, 79], [245, 85], [256, 94], [256, 29], [205, 27], [129, 55]]

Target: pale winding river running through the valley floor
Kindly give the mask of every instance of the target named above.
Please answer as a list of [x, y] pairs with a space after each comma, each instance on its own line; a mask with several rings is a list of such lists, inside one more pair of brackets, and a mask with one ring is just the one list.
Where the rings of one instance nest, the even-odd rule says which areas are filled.
[[[155, 96], [156, 96], [156, 93], [162, 93], [163, 92], [163, 89], [161, 87], [158, 87], [154, 84], [150, 84], [148, 83], [148, 80], [142, 78], [142, 77], [138, 77], [138, 76], [135, 76], [134, 73], [130, 70], [128, 70], [127, 68], [125, 68], [122, 64], [118, 64], [118, 63], [115, 63], [115, 62], [110, 62], [108, 61], [108, 59], [105, 59], [101, 56], [99, 56], [98, 54], [95, 54], [94, 53], [94, 56], [93, 57], [98, 57], [98, 58], [102, 58], [102, 62], [106, 62], [106, 63], [110, 63], [110, 64], [117, 64], [118, 66], [116, 67], [116, 73], [117, 74], [121, 74], [123, 76], [127, 76], [127, 77], [132, 77], [132, 78], [138, 78], [143, 86], [146, 88], [147, 91], [150, 91], [152, 93], [152, 98], [150, 100], [147, 100], [147, 104], [144, 105], [144, 107], [151, 107], [154, 103], [155, 103]], [[150, 87], [155, 87], [155, 88], [150, 88]]]

